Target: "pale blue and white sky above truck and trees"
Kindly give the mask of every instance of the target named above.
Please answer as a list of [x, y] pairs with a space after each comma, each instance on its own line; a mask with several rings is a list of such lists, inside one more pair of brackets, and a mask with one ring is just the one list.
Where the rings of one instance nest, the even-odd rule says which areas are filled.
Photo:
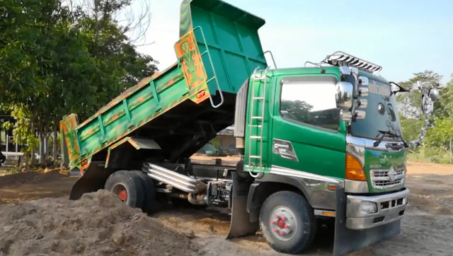
[[[145, 43], [154, 44], [137, 50], [164, 70], [176, 62], [181, 0], [149, 1], [152, 18]], [[430, 69], [445, 84], [453, 74], [453, 1], [224, 1], [265, 19], [258, 34], [279, 68], [320, 62], [341, 50], [383, 66], [380, 74], [389, 81], [406, 81]]]

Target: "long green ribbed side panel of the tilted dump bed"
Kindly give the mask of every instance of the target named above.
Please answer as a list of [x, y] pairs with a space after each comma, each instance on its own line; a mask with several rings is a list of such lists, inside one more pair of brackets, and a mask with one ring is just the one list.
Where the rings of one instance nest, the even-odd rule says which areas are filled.
[[188, 95], [181, 69], [174, 66], [164, 75], [147, 83], [127, 97], [97, 115], [97, 118], [79, 125], [76, 136], [81, 157], [90, 156], [108, 144], [141, 127], [148, 120], [173, 107]]

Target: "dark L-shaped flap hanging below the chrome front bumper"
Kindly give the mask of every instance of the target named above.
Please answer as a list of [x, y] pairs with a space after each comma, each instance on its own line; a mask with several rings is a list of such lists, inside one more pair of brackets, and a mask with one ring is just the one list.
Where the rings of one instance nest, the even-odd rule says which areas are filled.
[[386, 240], [401, 231], [401, 220], [386, 225], [353, 231], [346, 228], [346, 194], [345, 189], [336, 190], [336, 221], [333, 255], [344, 255], [360, 248], [365, 248], [380, 240]]

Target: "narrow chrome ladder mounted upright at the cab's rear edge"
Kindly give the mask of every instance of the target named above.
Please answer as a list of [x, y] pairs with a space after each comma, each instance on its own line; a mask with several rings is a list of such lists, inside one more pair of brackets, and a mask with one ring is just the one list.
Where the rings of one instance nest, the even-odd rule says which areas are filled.
[[[266, 83], [268, 81], [268, 70], [269, 66], [265, 69], [264, 74], [262, 76], [257, 76], [256, 71], [258, 70], [259, 66], [253, 71], [253, 82], [252, 82], [252, 88], [251, 88], [251, 106], [250, 106], [250, 120], [248, 123], [248, 173], [253, 177], [257, 178], [261, 174], [261, 170], [263, 168], [263, 126], [264, 126], [264, 110], [265, 110], [265, 100], [266, 100]], [[258, 96], [255, 95], [255, 84], [257, 80], [264, 81], [263, 82], [263, 90], [260, 90], [263, 92], [262, 96], [259, 96], [260, 93], [258, 93]], [[253, 107], [255, 106], [256, 100], [261, 100], [261, 112], [260, 115], [253, 115]], [[253, 120], [260, 120], [260, 124], [253, 124]], [[258, 134], [260, 135], [251, 135], [252, 134], [252, 129], [253, 127], [256, 127], [259, 129]], [[253, 139], [256, 139], [259, 142], [259, 155], [252, 155], [252, 141]], [[258, 165], [258, 173], [254, 174], [252, 172], [252, 159], [259, 159], [259, 165]], [[254, 166], [256, 166], [256, 163]]]

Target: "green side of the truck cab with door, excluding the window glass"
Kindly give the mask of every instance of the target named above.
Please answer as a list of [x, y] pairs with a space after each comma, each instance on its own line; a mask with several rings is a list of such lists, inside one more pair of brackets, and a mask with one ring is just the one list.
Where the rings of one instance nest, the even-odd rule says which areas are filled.
[[[265, 122], [263, 137], [263, 163], [265, 168], [264, 173], [268, 173], [271, 165], [280, 165], [285, 168], [294, 170], [302, 170], [309, 173], [331, 176], [334, 178], [345, 177], [345, 122], [340, 122], [338, 132], [325, 132], [320, 129], [302, 126], [283, 120], [280, 117], [280, 79], [287, 76], [335, 76], [340, 80], [340, 72], [338, 67], [325, 67], [325, 74], [321, 74], [319, 68], [296, 68], [296, 69], [277, 69], [268, 73], [273, 76], [272, 80], [268, 80], [266, 105], [265, 105]], [[259, 95], [258, 91], [262, 88], [263, 81], [256, 81], [255, 95]], [[248, 110], [251, 107], [251, 93], [248, 95]], [[255, 114], [259, 113], [260, 102], [254, 106]], [[259, 111], [259, 112], [258, 112]], [[250, 113], [247, 113], [247, 120]], [[253, 121], [253, 124], [258, 124], [258, 121]], [[248, 143], [248, 136], [256, 136], [258, 129], [253, 128], [249, 134], [246, 129], [246, 149], [251, 146], [252, 154], [258, 152], [258, 143], [253, 141]], [[280, 158], [273, 154], [272, 141], [273, 139], [283, 139], [292, 142], [294, 150], [297, 152], [298, 162]], [[252, 162], [257, 162], [253, 160]], [[248, 163], [248, 150], [246, 150], [245, 163]], [[253, 171], [257, 171], [255, 169]]]

